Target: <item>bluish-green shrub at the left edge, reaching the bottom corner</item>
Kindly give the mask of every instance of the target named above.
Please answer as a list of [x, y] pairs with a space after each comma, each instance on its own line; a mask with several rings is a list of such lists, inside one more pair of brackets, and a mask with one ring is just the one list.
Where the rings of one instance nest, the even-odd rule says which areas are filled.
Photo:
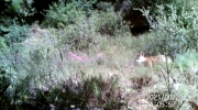
[[[12, 48], [14, 47], [14, 48]], [[7, 51], [3, 51], [1, 58], [1, 91], [0, 97], [2, 109], [19, 109], [23, 102], [23, 96], [29, 94], [31, 75], [23, 72], [23, 63], [26, 59], [21, 56], [21, 48], [14, 45]], [[22, 69], [23, 68], [23, 69]]]

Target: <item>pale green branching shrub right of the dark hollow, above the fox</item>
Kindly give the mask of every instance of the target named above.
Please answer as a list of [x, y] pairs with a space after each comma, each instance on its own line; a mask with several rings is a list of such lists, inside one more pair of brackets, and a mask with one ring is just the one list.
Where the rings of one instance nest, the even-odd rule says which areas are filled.
[[185, 7], [182, 13], [177, 13], [175, 6], [167, 4], [169, 14], [166, 14], [164, 6], [158, 6], [158, 15], [153, 21], [148, 16], [150, 11], [143, 11], [152, 24], [153, 31], [145, 50], [151, 54], [165, 54], [175, 56], [188, 48], [196, 48], [198, 43], [197, 34], [197, 13], [194, 9], [187, 10]]

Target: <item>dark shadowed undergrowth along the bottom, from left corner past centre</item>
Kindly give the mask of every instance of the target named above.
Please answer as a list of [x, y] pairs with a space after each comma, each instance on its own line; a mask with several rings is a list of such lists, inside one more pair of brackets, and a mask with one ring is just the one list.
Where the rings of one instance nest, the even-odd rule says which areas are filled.
[[25, 87], [8, 92], [9, 81], [6, 82], [8, 86], [0, 88], [2, 110], [119, 110], [123, 106], [116, 88], [117, 78], [107, 81], [101, 77], [87, 77], [77, 82], [70, 77], [63, 84], [36, 88], [25, 98], [20, 92]]

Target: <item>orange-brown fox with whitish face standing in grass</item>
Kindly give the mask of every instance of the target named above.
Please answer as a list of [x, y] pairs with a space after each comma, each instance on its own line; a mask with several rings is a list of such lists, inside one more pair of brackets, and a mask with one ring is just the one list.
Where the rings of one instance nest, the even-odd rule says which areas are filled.
[[143, 53], [141, 53], [141, 55], [139, 56], [139, 58], [136, 59], [136, 63], [141, 64], [141, 63], [145, 63], [147, 66], [153, 67], [153, 65], [155, 64], [160, 64], [160, 63], [173, 63], [172, 58], [169, 58], [168, 56], [165, 55], [156, 55], [156, 56], [150, 56], [150, 57], [145, 57]]

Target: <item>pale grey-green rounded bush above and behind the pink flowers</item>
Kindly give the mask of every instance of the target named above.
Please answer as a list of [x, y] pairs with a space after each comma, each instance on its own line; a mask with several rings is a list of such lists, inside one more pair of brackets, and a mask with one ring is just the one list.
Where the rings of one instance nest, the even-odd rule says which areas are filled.
[[87, 50], [97, 44], [95, 16], [78, 18], [80, 19], [76, 24], [69, 24], [64, 30], [58, 31], [58, 42], [61, 45], [69, 45], [72, 50]]

